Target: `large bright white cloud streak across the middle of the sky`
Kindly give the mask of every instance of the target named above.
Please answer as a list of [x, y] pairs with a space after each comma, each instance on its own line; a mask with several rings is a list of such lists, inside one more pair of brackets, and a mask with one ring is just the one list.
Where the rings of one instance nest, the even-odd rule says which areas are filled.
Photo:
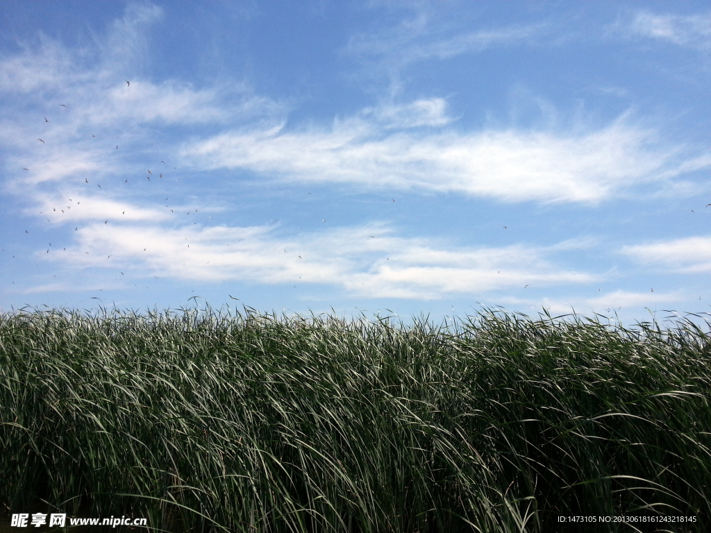
[[331, 129], [228, 131], [185, 144], [199, 168], [243, 168], [287, 181], [422, 188], [504, 201], [589, 202], [654, 181], [673, 151], [624, 119], [587, 134], [504, 129], [386, 134], [362, 118]]

